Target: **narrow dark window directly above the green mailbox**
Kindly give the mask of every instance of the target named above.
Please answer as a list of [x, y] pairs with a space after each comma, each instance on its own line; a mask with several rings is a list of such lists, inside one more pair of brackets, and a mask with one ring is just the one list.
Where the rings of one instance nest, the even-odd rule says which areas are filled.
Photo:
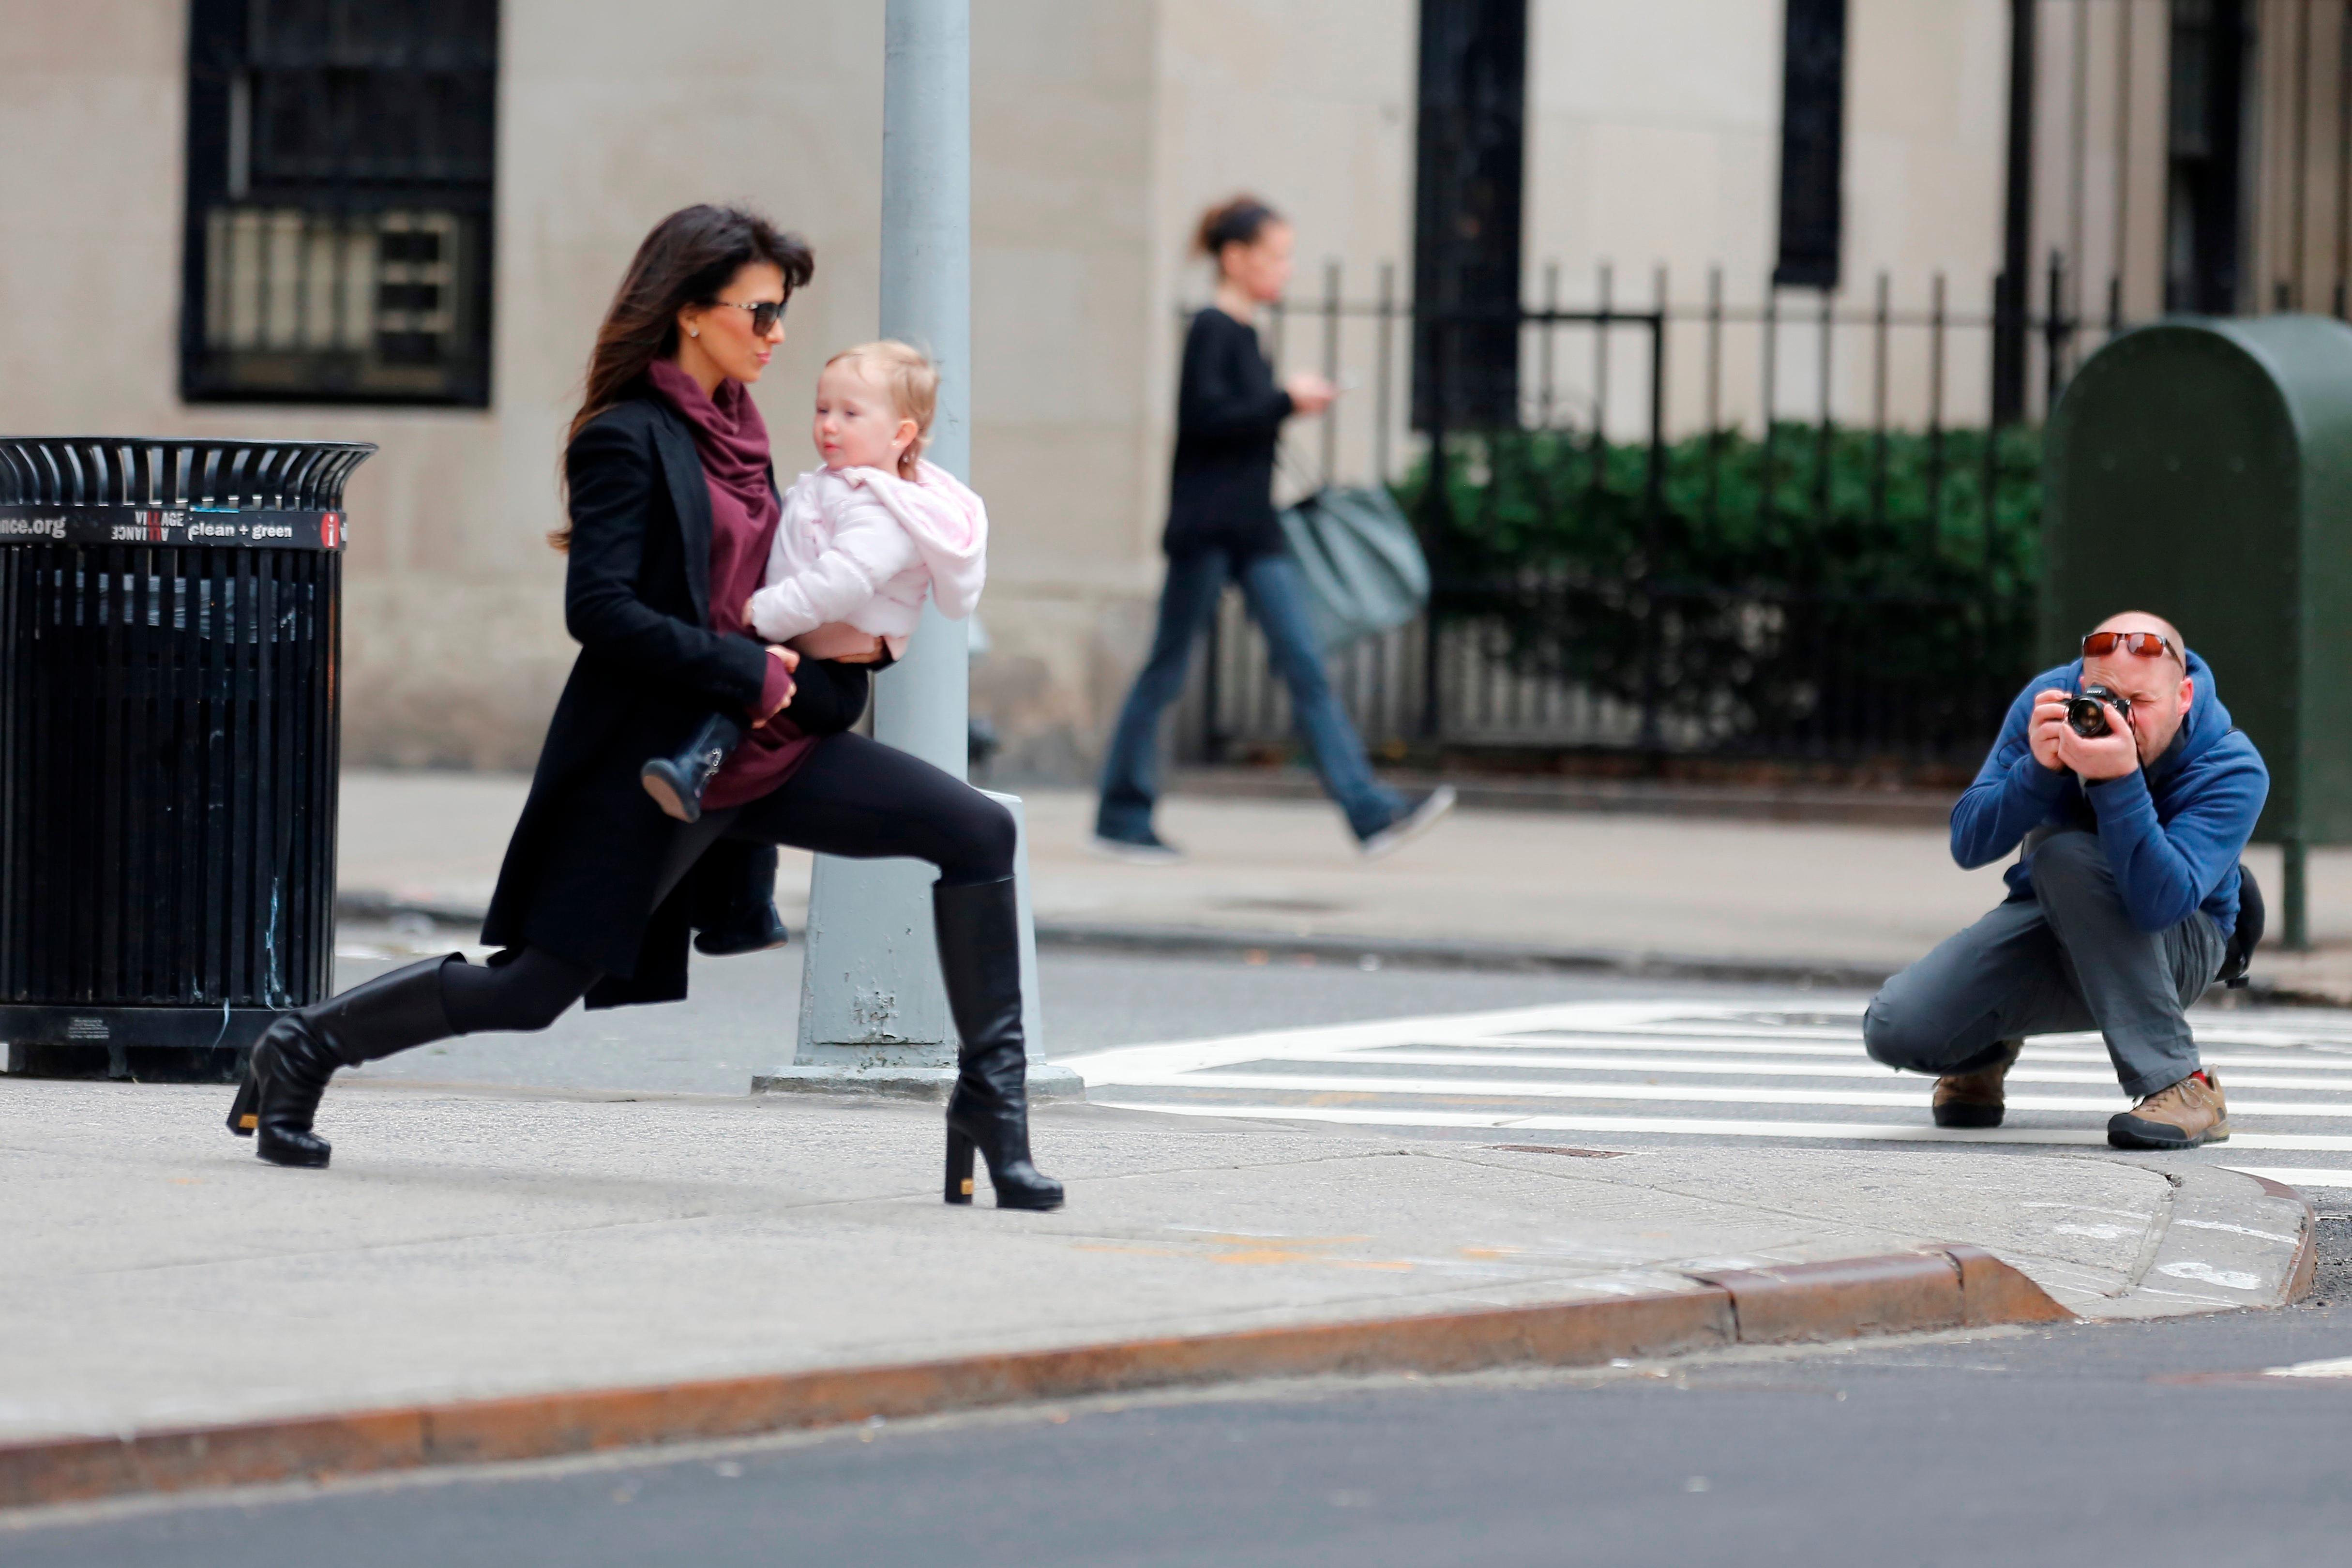
[[2164, 134], [2164, 308], [2239, 308], [2244, 223], [2246, 5], [2173, 0], [2171, 113]]

